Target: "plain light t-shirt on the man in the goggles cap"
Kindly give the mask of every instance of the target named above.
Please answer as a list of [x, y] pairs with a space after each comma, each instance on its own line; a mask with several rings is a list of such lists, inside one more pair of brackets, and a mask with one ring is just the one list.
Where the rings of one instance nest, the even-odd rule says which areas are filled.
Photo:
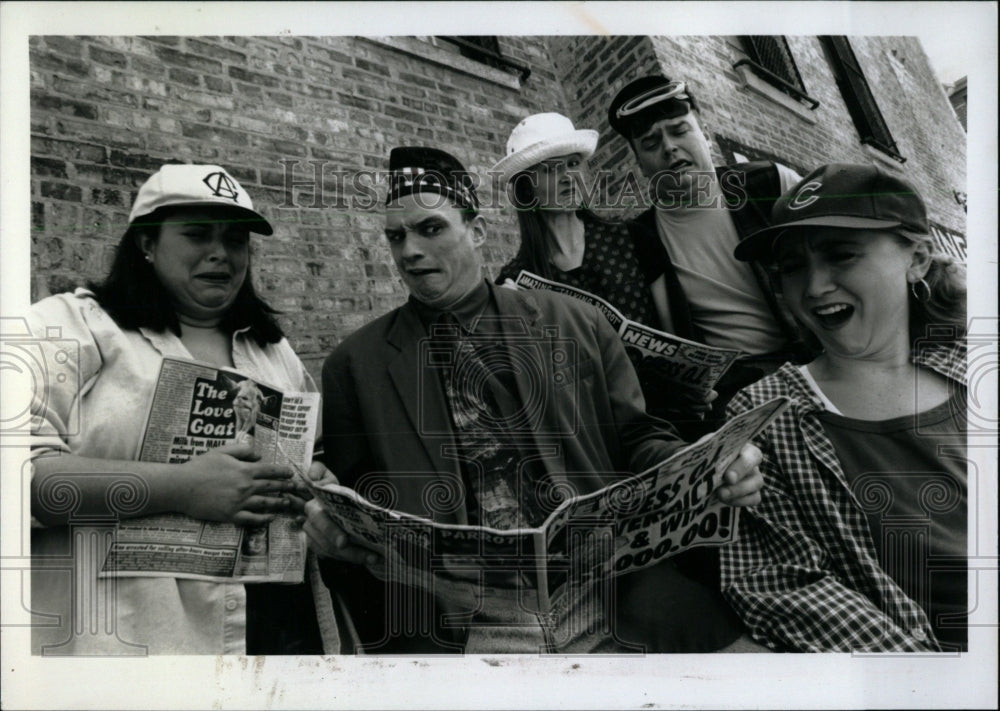
[[[798, 175], [778, 166], [781, 190]], [[713, 181], [713, 189], [719, 190]], [[733, 250], [739, 234], [721, 195], [720, 207], [657, 209], [656, 227], [691, 306], [691, 318], [711, 346], [768, 353], [785, 343], [750, 265], [737, 261]]]

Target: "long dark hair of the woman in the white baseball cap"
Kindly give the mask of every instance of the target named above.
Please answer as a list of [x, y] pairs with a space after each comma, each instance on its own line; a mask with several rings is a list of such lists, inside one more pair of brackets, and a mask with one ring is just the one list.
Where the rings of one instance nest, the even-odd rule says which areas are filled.
[[[170, 330], [178, 337], [181, 335], [180, 322], [170, 295], [139, 247], [143, 237], [158, 239], [160, 224], [175, 211], [163, 208], [142, 218], [140, 223], [130, 225], [115, 250], [111, 271], [104, 281], [89, 284], [97, 302], [123, 329], [149, 328], [161, 333]], [[250, 335], [263, 347], [284, 338], [285, 334], [274, 318], [279, 313], [257, 295], [248, 261], [243, 285], [219, 322], [219, 328], [232, 334], [249, 327]]]

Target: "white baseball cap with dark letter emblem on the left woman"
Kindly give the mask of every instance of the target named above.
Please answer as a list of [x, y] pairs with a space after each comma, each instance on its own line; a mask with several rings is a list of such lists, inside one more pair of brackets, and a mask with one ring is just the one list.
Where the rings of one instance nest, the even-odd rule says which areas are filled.
[[162, 166], [139, 188], [129, 224], [161, 207], [175, 206], [224, 207], [241, 215], [251, 232], [274, 234], [271, 223], [253, 209], [253, 201], [236, 178], [217, 165]]

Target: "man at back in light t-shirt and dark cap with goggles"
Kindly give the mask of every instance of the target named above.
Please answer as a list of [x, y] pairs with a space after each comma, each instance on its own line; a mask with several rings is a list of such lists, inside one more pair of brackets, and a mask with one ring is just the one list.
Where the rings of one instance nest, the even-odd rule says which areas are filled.
[[682, 81], [636, 79], [615, 96], [608, 120], [650, 181], [655, 205], [631, 232], [664, 327], [748, 354], [717, 387], [721, 413], [736, 390], [808, 354], [763, 267], [733, 258], [741, 238], [769, 224], [774, 200], [798, 176], [775, 163], [713, 166], [698, 104]]

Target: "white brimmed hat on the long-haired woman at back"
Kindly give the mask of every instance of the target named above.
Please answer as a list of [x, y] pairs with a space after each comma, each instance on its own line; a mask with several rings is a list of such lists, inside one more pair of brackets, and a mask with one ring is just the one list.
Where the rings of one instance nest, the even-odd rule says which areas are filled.
[[507, 155], [493, 166], [509, 181], [525, 168], [555, 156], [579, 153], [589, 158], [597, 148], [597, 131], [577, 130], [562, 114], [533, 114], [521, 121], [507, 139]]

